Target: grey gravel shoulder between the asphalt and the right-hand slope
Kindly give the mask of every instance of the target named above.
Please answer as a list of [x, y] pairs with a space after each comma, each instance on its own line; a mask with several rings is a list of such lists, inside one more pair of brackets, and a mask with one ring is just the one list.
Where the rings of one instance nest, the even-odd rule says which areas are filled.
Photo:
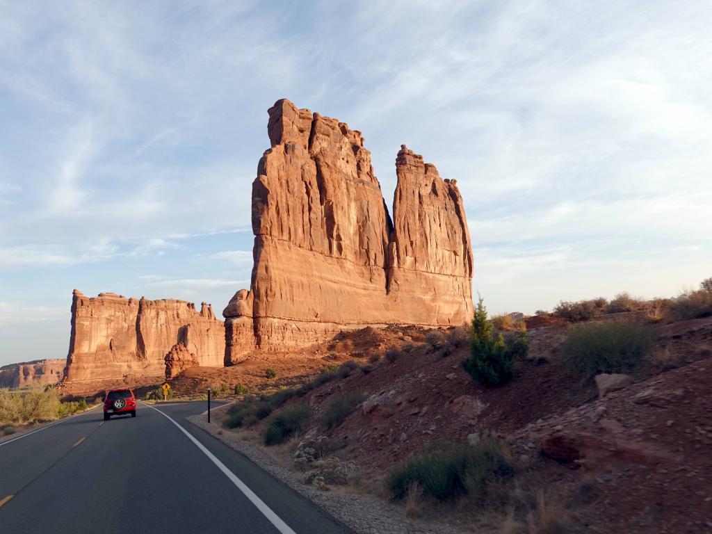
[[402, 509], [379, 498], [343, 491], [321, 491], [301, 481], [301, 473], [282, 466], [253, 444], [240, 439], [239, 434], [222, 429], [219, 423], [208, 423], [205, 417], [187, 420], [208, 432], [300, 495], [308, 498], [357, 534], [461, 534], [447, 525], [424, 525], [408, 520]]

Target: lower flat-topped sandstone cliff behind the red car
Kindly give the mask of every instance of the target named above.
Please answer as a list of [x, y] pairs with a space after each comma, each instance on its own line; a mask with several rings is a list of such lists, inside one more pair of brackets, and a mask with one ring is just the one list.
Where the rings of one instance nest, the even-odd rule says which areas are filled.
[[75, 290], [66, 380], [115, 379], [127, 374], [164, 375], [177, 343], [197, 365], [223, 365], [225, 330], [210, 305], [198, 312], [184, 300], [85, 297]]

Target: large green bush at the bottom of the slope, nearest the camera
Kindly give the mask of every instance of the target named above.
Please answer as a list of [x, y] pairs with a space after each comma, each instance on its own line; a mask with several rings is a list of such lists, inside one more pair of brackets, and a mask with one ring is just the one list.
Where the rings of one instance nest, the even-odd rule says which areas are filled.
[[488, 486], [514, 474], [506, 445], [492, 438], [476, 446], [426, 446], [402, 466], [390, 471], [386, 485], [392, 498], [402, 499], [417, 484], [426, 495], [445, 501], [468, 494], [486, 496]]

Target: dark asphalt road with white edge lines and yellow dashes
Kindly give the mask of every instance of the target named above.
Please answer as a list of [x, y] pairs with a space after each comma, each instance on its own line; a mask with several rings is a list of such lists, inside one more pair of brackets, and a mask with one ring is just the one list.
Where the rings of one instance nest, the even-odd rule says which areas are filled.
[[0, 443], [0, 533], [350, 533], [184, 420], [204, 402], [157, 408], [199, 445], [145, 404], [135, 419], [103, 422], [99, 408]]

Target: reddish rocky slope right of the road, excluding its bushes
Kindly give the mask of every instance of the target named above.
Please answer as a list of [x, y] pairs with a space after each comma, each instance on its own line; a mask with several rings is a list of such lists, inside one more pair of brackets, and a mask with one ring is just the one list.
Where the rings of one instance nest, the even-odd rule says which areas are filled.
[[[632, 383], [603, 398], [595, 384], [572, 380], [562, 366], [559, 345], [566, 328], [553, 324], [529, 330], [528, 359], [518, 362], [512, 382], [498, 388], [475, 384], [461, 369], [466, 344], [433, 345], [425, 342], [424, 331], [400, 328], [341, 335], [301, 355], [293, 373], [280, 367], [276, 381], [299, 382], [331, 362], [363, 364], [389, 346], [402, 351], [394, 362], [381, 357], [371, 372], [355, 370], [290, 401], [308, 402], [318, 421], [334, 397], [350, 392], [367, 397], [333, 431], [313, 424], [308, 432], [325, 434], [337, 446], [336, 455], [358, 467], [357, 486], [332, 486], [331, 496], [346, 490], [387, 500], [384, 473], [425, 444], [473, 442], [489, 434], [508, 442], [519, 475], [516, 489], [506, 489], [506, 506], [422, 500], [416, 513], [409, 505], [409, 516], [418, 519], [404, 520], [410, 527], [403, 528], [437, 531], [429, 522], [446, 517], [448, 528], [465, 532], [532, 530], [521, 518], [506, 517], [506, 507], [519, 506], [514, 502], [519, 499], [531, 513], [558, 515], [556, 523], [566, 525], [566, 532], [712, 532], [712, 319], [662, 327], [649, 362], [632, 375]], [[258, 391], [265, 382], [263, 370], [275, 361], [252, 361], [226, 370], [225, 376], [234, 373]], [[214, 379], [208, 375], [187, 373], [181, 379], [205, 383]], [[258, 439], [264, 424], [248, 431], [221, 430], [222, 439], [267, 454], [298, 480], [303, 474], [292, 458], [298, 439], [265, 448]], [[548, 504], [536, 504], [537, 496]], [[407, 507], [398, 506], [404, 514]]]

